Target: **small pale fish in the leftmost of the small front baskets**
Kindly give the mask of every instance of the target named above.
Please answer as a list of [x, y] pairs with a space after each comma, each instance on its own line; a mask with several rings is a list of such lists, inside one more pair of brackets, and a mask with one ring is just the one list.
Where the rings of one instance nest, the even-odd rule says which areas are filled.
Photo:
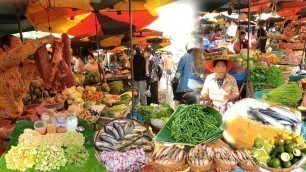
[[155, 163], [160, 165], [177, 164], [184, 159], [184, 150], [176, 147], [162, 147], [155, 156]]

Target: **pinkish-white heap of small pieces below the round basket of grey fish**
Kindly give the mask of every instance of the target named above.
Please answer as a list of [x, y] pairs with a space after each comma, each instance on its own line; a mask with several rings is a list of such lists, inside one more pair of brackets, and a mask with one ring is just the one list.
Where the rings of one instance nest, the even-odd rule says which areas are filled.
[[99, 154], [100, 161], [110, 172], [139, 171], [149, 162], [143, 149], [134, 149], [126, 152], [103, 151]]

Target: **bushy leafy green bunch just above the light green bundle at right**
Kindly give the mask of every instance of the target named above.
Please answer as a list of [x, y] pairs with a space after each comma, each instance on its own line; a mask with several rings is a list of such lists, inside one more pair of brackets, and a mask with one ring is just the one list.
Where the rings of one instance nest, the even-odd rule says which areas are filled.
[[283, 71], [281, 68], [276, 66], [271, 66], [266, 72], [267, 85], [273, 88], [279, 87], [285, 84], [285, 78], [283, 76]]

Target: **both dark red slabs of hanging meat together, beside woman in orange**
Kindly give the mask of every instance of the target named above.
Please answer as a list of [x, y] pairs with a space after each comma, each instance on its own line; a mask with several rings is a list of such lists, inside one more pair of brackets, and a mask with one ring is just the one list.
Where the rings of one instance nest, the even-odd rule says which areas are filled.
[[54, 42], [52, 57], [47, 48], [42, 46], [35, 53], [35, 64], [47, 87], [53, 91], [63, 91], [75, 85], [71, 66], [70, 39], [62, 35], [62, 42]]

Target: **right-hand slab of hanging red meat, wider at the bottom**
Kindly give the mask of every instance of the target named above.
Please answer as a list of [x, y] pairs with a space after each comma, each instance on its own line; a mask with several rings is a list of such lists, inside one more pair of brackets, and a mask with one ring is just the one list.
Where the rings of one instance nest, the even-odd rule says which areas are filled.
[[50, 74], [51, 89], [63, 91], [75, 85], [74, 76], [67, 63], [62, 58], [63, 42], [54, 42], [52, 69]]

